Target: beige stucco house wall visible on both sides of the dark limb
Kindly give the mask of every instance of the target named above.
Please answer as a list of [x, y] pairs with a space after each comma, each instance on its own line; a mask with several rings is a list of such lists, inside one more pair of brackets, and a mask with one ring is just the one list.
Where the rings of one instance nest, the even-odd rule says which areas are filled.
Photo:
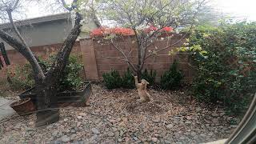
[[[72, 30], [70, 15], [66, 15], [66, 19], [52, 20], [49, 22], [26, 23], [26, 26], [19, 26], [18, 29], [29, 46], [45, 46], [64, 42], [66, 36]], [[97, 28], [97, 25], [91, 19], [82, 22], [82, 33], [79, 38], [89, 38], [90, 30]], [[8, 34], [17, 38], [13, 30], [5, 29]], [[78, 39], [79, 39], [78, 38]], [[3, 42], [0, 38], [0, 42]], [[13, 50], [11, 46], [5, 43], [6, 50]]]

